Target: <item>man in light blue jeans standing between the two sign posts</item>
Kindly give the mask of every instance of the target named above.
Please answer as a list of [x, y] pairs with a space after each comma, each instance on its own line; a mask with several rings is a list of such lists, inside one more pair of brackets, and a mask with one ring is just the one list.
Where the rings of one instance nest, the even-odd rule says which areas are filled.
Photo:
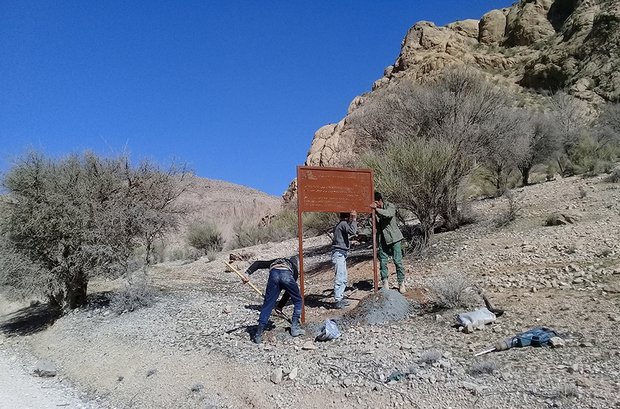
[[349, 236], [357, 233], [357, 212], [340, 213], [340, 222], [334, 227], [332, 239], [332, 262], [336, 269], [334, 278], [334, 306], [338, 309], [348, 306], [344, 300], [344, 290], [347, 287], [347, 254], [351, 248]]

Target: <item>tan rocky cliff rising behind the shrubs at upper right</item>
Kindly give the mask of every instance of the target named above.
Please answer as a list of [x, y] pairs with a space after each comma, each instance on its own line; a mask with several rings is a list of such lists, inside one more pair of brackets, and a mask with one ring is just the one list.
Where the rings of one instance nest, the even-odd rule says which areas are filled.
[[[537, 93], [558, 90], [593, 107], [618, 101], [620, 2], [521, 0], [510, 8], [492, 10], [479, 21], [444, 27], [416, 23], [403, 39], [398, 59], [372, 89], [431, 78], [445, 67], [459, 65], [480, 71], [526, 102]], [[364, 142], [349, 126], [348, 117], [366, 98], [356, 97], [345, 118], [315, 133], [307, 165], [345, 166], [357, 156]]]

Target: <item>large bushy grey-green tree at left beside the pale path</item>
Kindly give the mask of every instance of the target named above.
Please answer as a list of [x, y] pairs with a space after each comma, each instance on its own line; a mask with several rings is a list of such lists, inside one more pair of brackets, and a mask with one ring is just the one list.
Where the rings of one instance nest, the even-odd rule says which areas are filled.
[[[159, 220], [159, 231], [174, 226], [175, 212], [166, 209], [172, 198], [154, 190], [149, 194], [162, 196], [152, 200], [147, 190], [154, 181], [172, 185], [180, 177], [176, 171], [158, 173], [150, 164], [135, 169], [123, 156], [25, 155], [2, 180], [7, 196], [0, 233], [13, 265], [2, 284], [18, 291], [30, 285], [26, 292], [46, 296], [55, 307], [84, 304], [91, 277], [127, 271], [141, 238], [153, 231], [153, 220]], [[35, 272], [45, 281], [33, 279]]]

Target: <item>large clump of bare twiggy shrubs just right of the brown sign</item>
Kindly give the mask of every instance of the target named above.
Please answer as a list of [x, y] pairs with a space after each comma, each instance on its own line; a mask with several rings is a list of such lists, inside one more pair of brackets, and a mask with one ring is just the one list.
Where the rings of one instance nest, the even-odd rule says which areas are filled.
[[448, 70], [435, 82], [376, 91], [349, 118], [372, 137], [374, 151], [362, 162], [375, 170], [378, 189], [416, 215], [426, 244], [438, 217], [448, 230], [458, 227], [462, 182], [476, 163], [486, 164], [496, 192], [518, 164], [527, 179], [537, 144], [549, 138], [541, 127], [526, 132], [524, 117], [481, 77]]

